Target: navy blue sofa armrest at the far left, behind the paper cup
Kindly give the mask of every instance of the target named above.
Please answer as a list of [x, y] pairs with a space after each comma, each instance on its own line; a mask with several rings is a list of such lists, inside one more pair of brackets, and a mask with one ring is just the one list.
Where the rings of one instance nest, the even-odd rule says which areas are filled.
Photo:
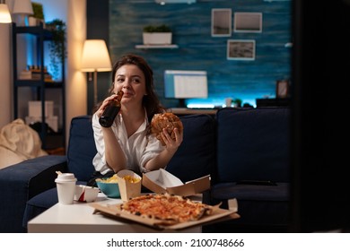
[[66, 172], [66, 156], [47, 155], [0, 169], [0, 232], [21, 232], [31, 197], [56, 186], [56, 171]]

